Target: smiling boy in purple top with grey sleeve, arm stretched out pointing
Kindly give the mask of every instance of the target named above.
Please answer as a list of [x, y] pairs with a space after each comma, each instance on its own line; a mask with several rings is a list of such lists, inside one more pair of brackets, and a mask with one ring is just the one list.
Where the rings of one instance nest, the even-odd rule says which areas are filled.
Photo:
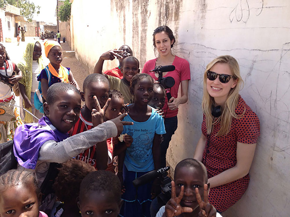
[[[97, 98], [94, 99], [99, 104]], [[96, 143], [117, 136], [123, 131], [123, 124], [129, 124], [121, 122], [126, 114], [102, 123], [104, 110], [98, 106], [92, 112], [96, 127], [69, 137], [67, 132], [79, 118], [81, 96], [77, 88], [68, 83], [52, 84], [43, 107], [46, 116], [38, 123], [19, 126], [14, 136], [18, 169], [35, 172], [39, 186], [55, 178], [46, 179], [52, 174], [48, 172], [54, 165], [51, 163], [64, 163]]]

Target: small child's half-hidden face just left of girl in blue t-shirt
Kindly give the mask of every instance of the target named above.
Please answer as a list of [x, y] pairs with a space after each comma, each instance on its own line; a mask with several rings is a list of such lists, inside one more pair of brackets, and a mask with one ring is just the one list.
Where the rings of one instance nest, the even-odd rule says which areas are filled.
[[119, 97], [112, 97], [105, 113], [106, 120], [116, 118], [119, 115], [122, 115], [124, 111], [125, 111], [124, 99]]

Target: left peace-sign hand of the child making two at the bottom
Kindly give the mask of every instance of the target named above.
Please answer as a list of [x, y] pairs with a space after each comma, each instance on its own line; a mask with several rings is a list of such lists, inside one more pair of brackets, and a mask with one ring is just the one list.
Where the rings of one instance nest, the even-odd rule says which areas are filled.
[[184, 212], [193, 211], [190, 207], [182, 207], [180, 205], [180, 201], [182, 200], [183, 194], [184, 194], [184, 186], [181, 186], [180, 194], [178, 197], [176, 197], [175, 183], [174, 181], [171, 181], [171, 199], [165, 205], [164, 214], [166, 217], [179, 216]]

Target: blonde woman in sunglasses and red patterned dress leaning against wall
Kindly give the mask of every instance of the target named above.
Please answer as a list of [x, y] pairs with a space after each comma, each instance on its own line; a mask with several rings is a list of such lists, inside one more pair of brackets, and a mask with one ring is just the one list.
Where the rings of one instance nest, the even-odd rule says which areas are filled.
[[243, 85], [237, 60], [219, 56], [204, 72], [203, 122], [194, 158], [206, 166], [209, 202], [218, 212], [234, 205], [247, 190], [260, 123], [239, 95]]

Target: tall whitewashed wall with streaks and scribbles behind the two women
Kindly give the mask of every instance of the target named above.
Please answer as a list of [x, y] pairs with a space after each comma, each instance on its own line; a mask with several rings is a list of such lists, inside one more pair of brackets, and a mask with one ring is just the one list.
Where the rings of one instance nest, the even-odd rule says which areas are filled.
[[[289, 0], [74, 0], [71, 38], [91, 72], [99, 56], [126, 43], [142, 68], [155, 57], [153, 30], [168, 25], [173, 53], [190, 62], [189, 101], [180, 106], [168, 163], [192, 157], [201, 135], [202, 78], [216, 56], [239, 64], [240, 92], [260, 118], [261, 136], [243, 198], [224, 216], [289, 216], [290, 211], [290, 1]], [[117, 61], [106, 61], [104, 69]]]

